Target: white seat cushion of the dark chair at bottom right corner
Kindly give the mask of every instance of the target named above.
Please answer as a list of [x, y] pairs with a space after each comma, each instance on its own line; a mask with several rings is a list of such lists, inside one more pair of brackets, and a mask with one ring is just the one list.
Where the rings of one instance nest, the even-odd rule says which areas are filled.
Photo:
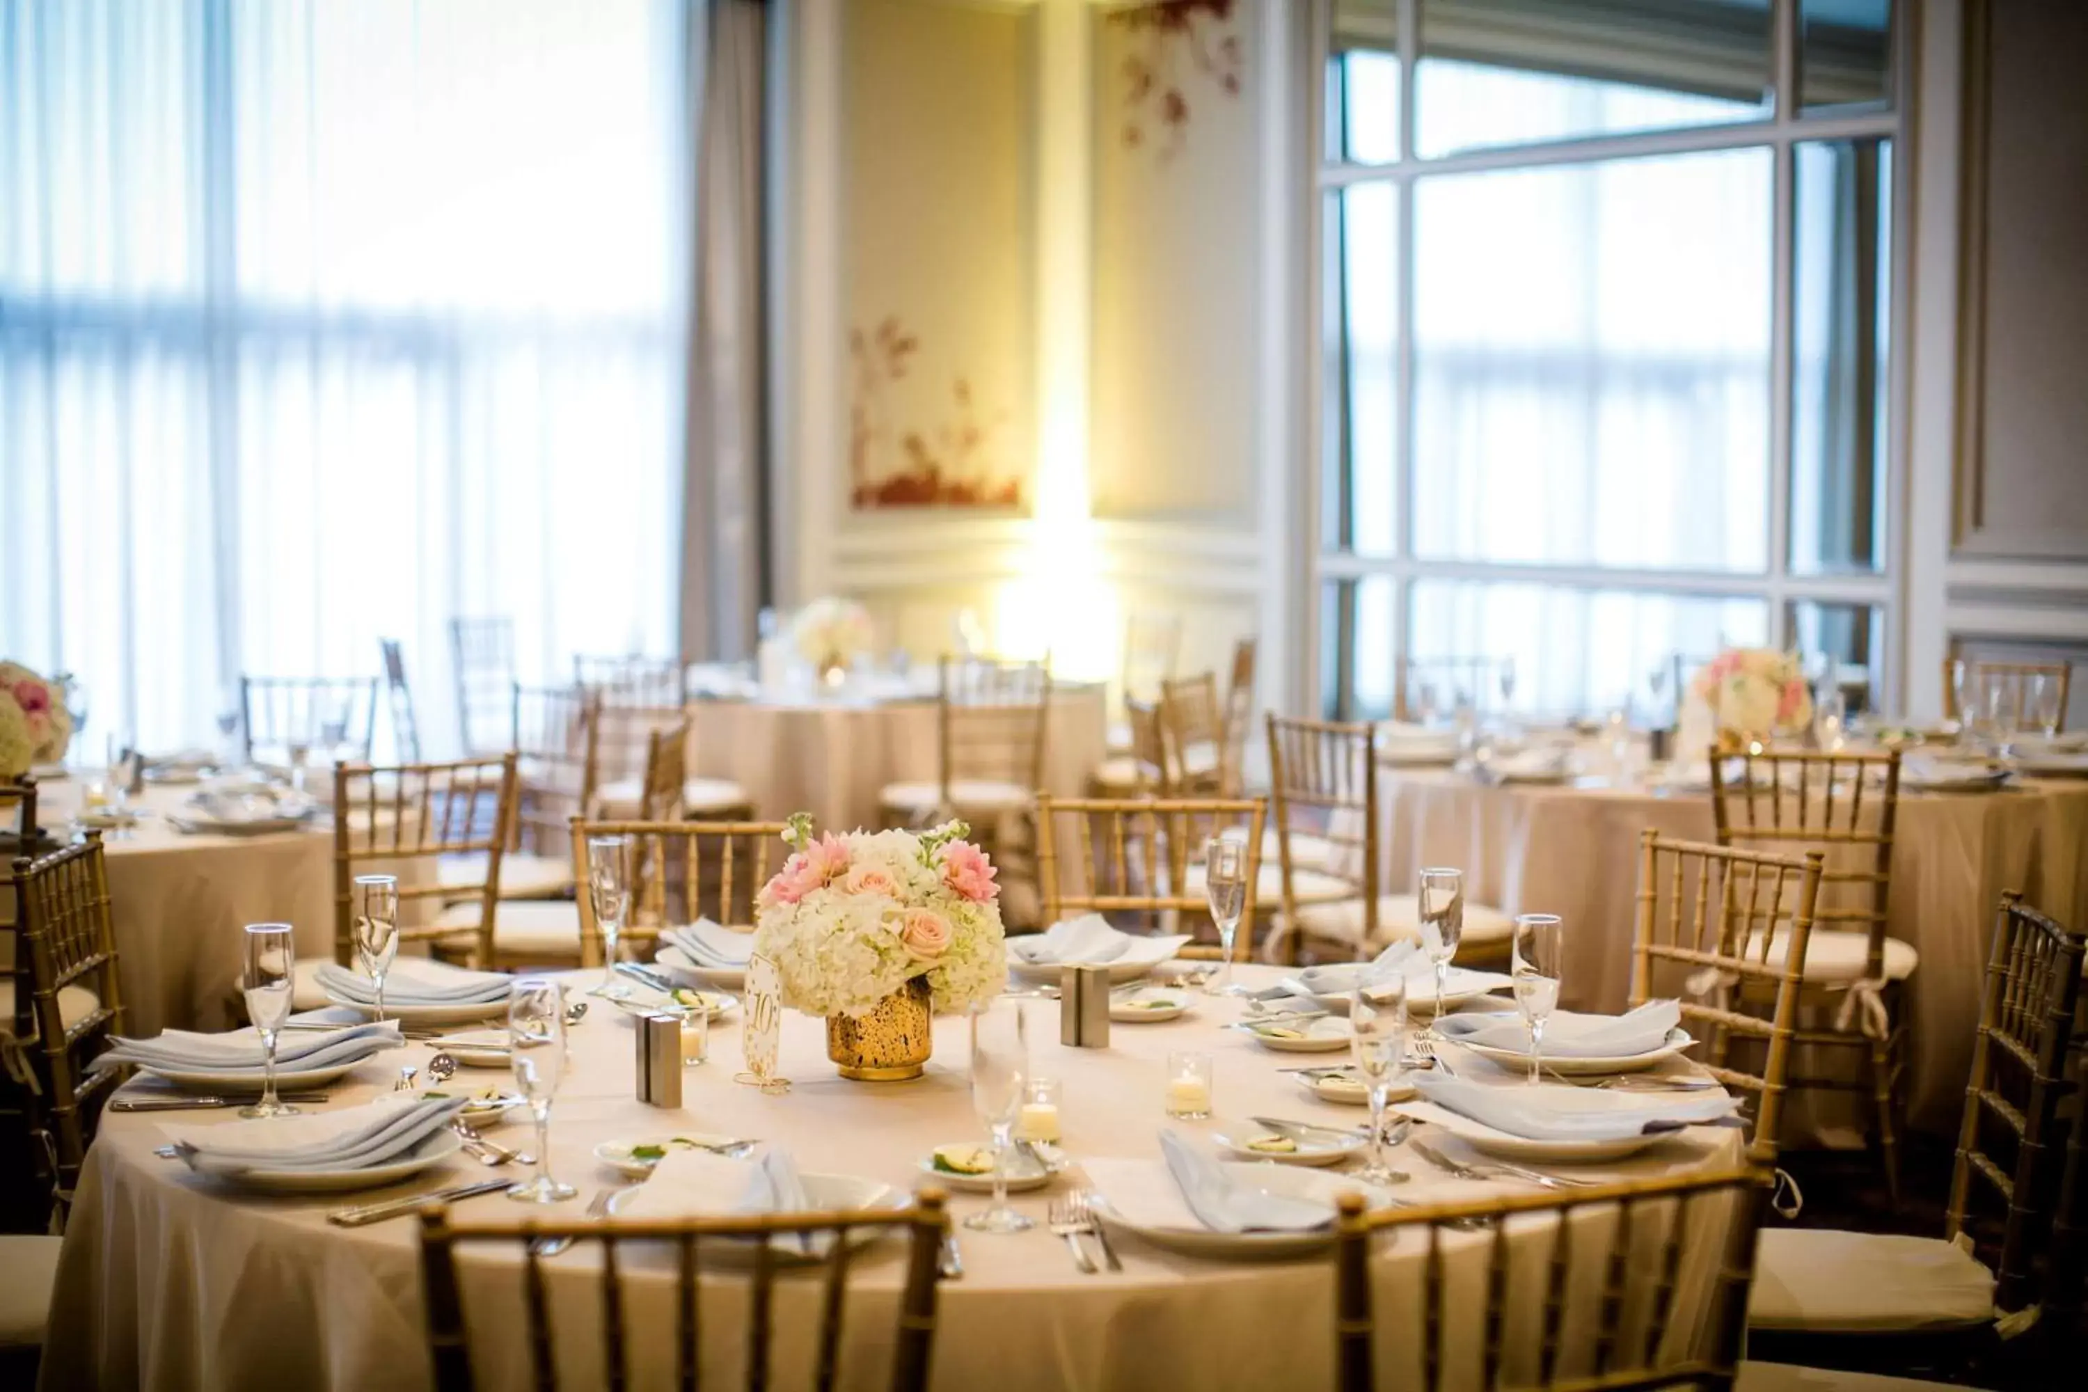
[[1748, 1327], [1812, 1334], [1950, 1329], [1994, 1319], [1994, 1273], [1942, 1238], [1764, 1227]]

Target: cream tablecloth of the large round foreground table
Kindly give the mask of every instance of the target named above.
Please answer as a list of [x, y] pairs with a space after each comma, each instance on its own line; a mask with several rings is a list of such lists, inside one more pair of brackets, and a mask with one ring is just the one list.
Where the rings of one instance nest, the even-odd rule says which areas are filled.
[[[1249, 983], [1272, 981], [1276, 968], [1242, 968]], [[599, 977], [576, 973], [593, 985]], [[1355, 1125], [1359, 1108], [1307, 1096], [1282, 1064], [1295, 1054], [1261, 1050], [1219, 1023], [1238, 1014], [1234, 1002], [1201, 1000], [1190, 1014], [1146, 1025], [1117, 1025], [1111, 1048], [1077, 1050], [1057, 1043], [1057, 1002], [1029, 1002], [1031, 1066], [1065, 1085], [1065, 1148], [1084, 1156], [1159, 1156], [1161, 1096], [1169, 1050], [1205, 1050], [1215, 1060], [1217, 1117], [1267, 1112]], [[560, 1087], [551, 1121], [553, 1171], [578, 1187], [560, 1206], [578, 1215], [606, 1187], [628, 1183], [591, 1158], [595, 1144], [674, 1131], [710, 1131], [762, 1137], [787, 1146], [800, 1169], [852, 1173], [894, 1185], [923, 1179], [917, 1160], [938, 1144], [979, 1137], [971, 1112], [965, 1062], [965, 1021], [935, 1021], [935, 1054], [921, 1079], [906, 1083], [850, 1083], [825, 1058], [816, 1018], [785, 1012], [779, 1071], [793, 1081], [789, 1094], [764, 1096], [733, 1083], [741, 1062], [739, 1012], [712, 1029], [712, 1058], [685, 1073], [685, 1106], [664, 1112], [633, 1098], [633, 1027], [620, 1012], [599, 1006], [570, 1035], [572, 1069]], [[401, 1058], [426, 1060], [426, 1046], [380, 1054], [336, 1087], [338, 1102], [365, 1100], [388, 1087]], [[1311, 1062], [1311, 1056], [1303, 1058]], [[1320, 1056], [1324, 1062], [1326, 1056]], [[464, 1071], [461, 1081], [503, 1081], [499, 1073]], [[52, 1300], [44, 1350], [44, 1388], [370, 1388], [401, 1392], [428, 1386], [422, 1338], [422, 1281], [416, 1225], [409, 1219], [367, 1227], [332, 1227], [330, 1206], [370, 1196], [251, 1196], [190, 1175], [152, 1148], [165, 1142], [169, 1121], [207, 1127], [221, 1112], [175, 1119], [106, 1114], [88, 1154], [77, 1190]], [[1171, 1123], [1190, 1133], [1217, 1123]], [[522, 1146], [526, 1123], [495, 1131]], [[1445, 1150], [1460, 1142], [1437, 1137]], [[1587, 1175], [1654, 1175], [1737, 1160], [1741, 1133], [1698, 1127], [1662, 1139], [1622, 1162], [1585, 1167]], [[1449, 1179], [1418, 1154], [1395, 1150], [1395, 1162], [1414, 1173], [1401, 1198], [1468, 1198], [1487, 1185]], [[409, 1181], [434, 1190], [487, 1171], [461, 1158]], [[520, 1177], [520, 1171], [518, 1171]], [[933, 1344], [935, 1388], [1138, 1388], [1138, 1386], [1332, 1386], [1332, 1269], [1328, 1258], [1286, 1263], [1221, 1263], [1190, 1258], [1117, 1238], [1125, 1271], [1082, 1275], [1063, 1242], [1044, 1229], [1048, 1200], [1077, 1175], [1048, 1190], [1017, 1194], [1019, 1210], [1038, 1221], [1027, 1233], [990, 1235], [958, 1227], [965, 1275], [944, 1281], [938, 1296]], [[395, 1196], [407, 1185], [378, 1192]], [[954, 1194], [952, 1217], [986, 1204], [983, 1196]], [[457, 1213], [474, 1221], [520, 1219], [526, 1213], [499, 1194], [472, 1198]], [[1518, 1221], [1520, 1223], [1520, 1221]], [[1512, 1233], [1518, 1229], [1512, 1225]], [[1472, 1238], [1480, 1261], [1485, 1235]], [[1572, 1288], [1587, 1298], [1601, 1290], [1599, 1242], [1572, 1246], [1572, 1261], [1589, 1265]], [[1681, 1275], [1679, 1319], [1670, 1338], [1691, 1340], [1702, 1327], [1693, 1311], [1708, 1300], [1716, 1244], [1689, 1248]], [[902, 1246], [881, 1242], [850, 1265], [848, 1323], [841, 1350], [846, 1386], [883, 1386], [892, 1311], [902, 1277]], [[1411, 1317], [1420, 1279], [1422, 1244], [1380, 1244], [1376, 1290], [1386, 1319]], [[1518, 1246], [1518, 1261], [1539, 1261], [1539, 1248]], [[637, 1271], [637, 1256], [631, 1258]], [[503, 1265], [505, 1263], [505, 1265]], [[557, 1319], [593, 1321], [599, 1309], [599, 1256], [578, 1246], [547, 1265], [549, 1298]], [[505, 1254], [464, 1258], [466, 1317], [472, 1325], [480, 1386], [522, 1386], [520, 1304], [516, 1267]], [[739, 1306], [722, 1296], [739, 1275], [706, 1275], [704, 1331], [706, 1382], [739, 1386], [745, 1329]], [[664, 1386], [670, 1300], [666, 1271], [633, 1275], [637, 1319], [637, 1386]], [[775, 1386], [808, 1386], [793, 1361], [808, 1359], [816, 1319], [818, 1277], [783, 1277], [777, 1304], [779, 1367]], [[1579, 1296], [1576, 1296], [1579, 1298]], [[647, 1302], [649, 1300], [649, 1302]], [[1541, 1298], [1518, 1309], [1535, 1321]], [[474, 1315], [474, 1309], [489, 1311]], [[645, 1317], [656, 1311], [658, 1317]], [[501, 1315], [507, 1315], [505, 1319]], [[1460, 1319], [1460, 1315], [1451, 1315]], [[1576, 1327], [1581, 1321], [1568, 1321]], [[1405, 1325], [1395, 1325], [1405, 1327]], [[1462, 1340], [1462, 1331], [1457, 1331]], [[647, 1342], [651, 1340], [651, 1342]], [[1474, 1329], [1472, 1348], [1478, 1331]], [[595, 1359], [580, 1340], [568, 1340], [562, 1359]], [[1535, 1346], [1535, 1336], [1528, 1340]], [[1460, 1344], [1462, 1346], [1462, 1344]], [[1411, 1340], [1386, 1338], [1380, 1357], [1399, 1359]], [[647, 1361], [647, 1350], [658, 1357]], [[580, 1363], [589, 1386], [599, 1361]], [[1384, 1373], [1380, 1373], [1380, 1379]], [[1391, 1386], [1391, 1384], [1384, 1384]]]

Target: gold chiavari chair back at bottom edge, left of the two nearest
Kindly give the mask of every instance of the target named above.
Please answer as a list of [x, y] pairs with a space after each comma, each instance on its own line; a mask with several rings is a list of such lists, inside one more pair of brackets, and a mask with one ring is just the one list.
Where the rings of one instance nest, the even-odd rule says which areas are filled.
[[[858, 1331], [850, 1352], [892, 1350], [892, 1371], [885, 1388], [892, 1392], [921, 1392], [927, 1388], [929, 1359], [935, 1344], [935, 1283], [942, 1275], [942, 1240], [950, 1229], [944, 1213], [942, 1190], [925, 1187], [906, 1208], [858, 1208], [829, 1213], [775, 1213], [725, 1219], [677, 1219], [677, 1221], [633, 1221], [618, 1219], [601, 1223], [595, 1219], [564, 1219], [520, 1223], [459, 1223], [447, 1204], [422, 1210], [420, 1261], [428, 1306], [428, 1354], [438, 1392], [470, 1392], [478, 1386], [472, 1365], [472, 1319], [464, 1300], [464, 1256], [461, 1248], [520, 1248], [520, 1277], [509, 1283], [514, 1292], [499, 1311], [482, 1311], [480, 1329], [499, 1329], [499, 1338], [509, 1346], [528, 1350], [528, 1382], [535, 1388], [555, 1388], [560, 1384], [585, 1386], [651, 1386], [647, 1375], [637, 1377], [637, 1346], [645, 1331], [666, 1331], [670, 1340], [654, 1344], [656, 1352], [672, 1361], [674, 1386], [693, 1390], [704, 1384], [722, 1386], [735, 1357], [743, 1359], [741, 1377], [754, 1392], [770, 1386], [800, 1388], [837, 1386], [844, 1357], [844, 1315], [848, 1296], [848, 1269], [858, 1233], [904, 1233], [906, 1235], [906, 1279], [898, 1298], [894, 1327], [885, 1334]], [[777, 1317], [777, 1250], [775, 1240], [825, 1240], [825, 1256], [818, 1258], [823, 1290], [816, 1302], [818, 1329], [793, 1329]], [[601, 1248], [599, 1271], [591, 1277], [574, 1275], [566, 1279], [593, 1279], [599, 1288], [593, 1300], [551, 1300], [553, 1279], [545, 1273], [541, 1244], [578, 1242]], [[756, 1244], [745, 1256], [745, 1244]], [[626, 1281], [624, 1273], [643, 1267], [645, 1248], [672, 1254], [672, 1286], [666, 1281]], [[706, 1286], [699, 1279], [706, 1252], [735, 1252], [735, 1265], [752, 1265], [745, 1294], [731, 1300], [745, 1306], [745, 1340], [706, 1338], [699, 1304]], [[489, 1279], [470, 1281], [474, 1300], [493, 1294]], [[672, 1304], [672, 1309], [664, 1309]], [[520, 1309], [516, 1309], [520, 1306]], [[791, 1302], [791, 1309], [804, 1309]], [[555, 1317], [553, 1317], [555, 1313]], [[583, 1315], [585, 1313], [585, 1315]], [[524, 1338], [514, 1344], [507, 1331], [520, 1315]], [[570, 1336], [562, 1357], [557, 1327], [566, 1325]], [[635, 1334], [637, 1331], [637, 1334]], [[585, 1352], [574, 1352], [574, 1346]], [[729, 1352], [731, 1350], [731, 1352]], [[589, 1357], [593, 1354], [593, 1357]], [[783, 1359], [777, 1365], [777, 1359]], [[501, 1379], [503, 1384], [507, 1379]], [[520, 1382], [520, 1377], [516, 1377]], [[856, 1369], [848, 1386], [875, 1386], [867, 1369]]]

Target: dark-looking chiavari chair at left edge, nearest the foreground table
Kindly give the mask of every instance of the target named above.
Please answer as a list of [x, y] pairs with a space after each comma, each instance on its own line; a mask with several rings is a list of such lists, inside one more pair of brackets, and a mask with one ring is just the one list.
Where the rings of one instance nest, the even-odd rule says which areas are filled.
[[102, 837], [15, 858], [17, 943], [0, 1052], [33, 1079], [29, 1114], [42, 1133], [61, 1204], [71, 1202], [100, 1104], [123, 1069], [88, 1071], [123, 1027]]

